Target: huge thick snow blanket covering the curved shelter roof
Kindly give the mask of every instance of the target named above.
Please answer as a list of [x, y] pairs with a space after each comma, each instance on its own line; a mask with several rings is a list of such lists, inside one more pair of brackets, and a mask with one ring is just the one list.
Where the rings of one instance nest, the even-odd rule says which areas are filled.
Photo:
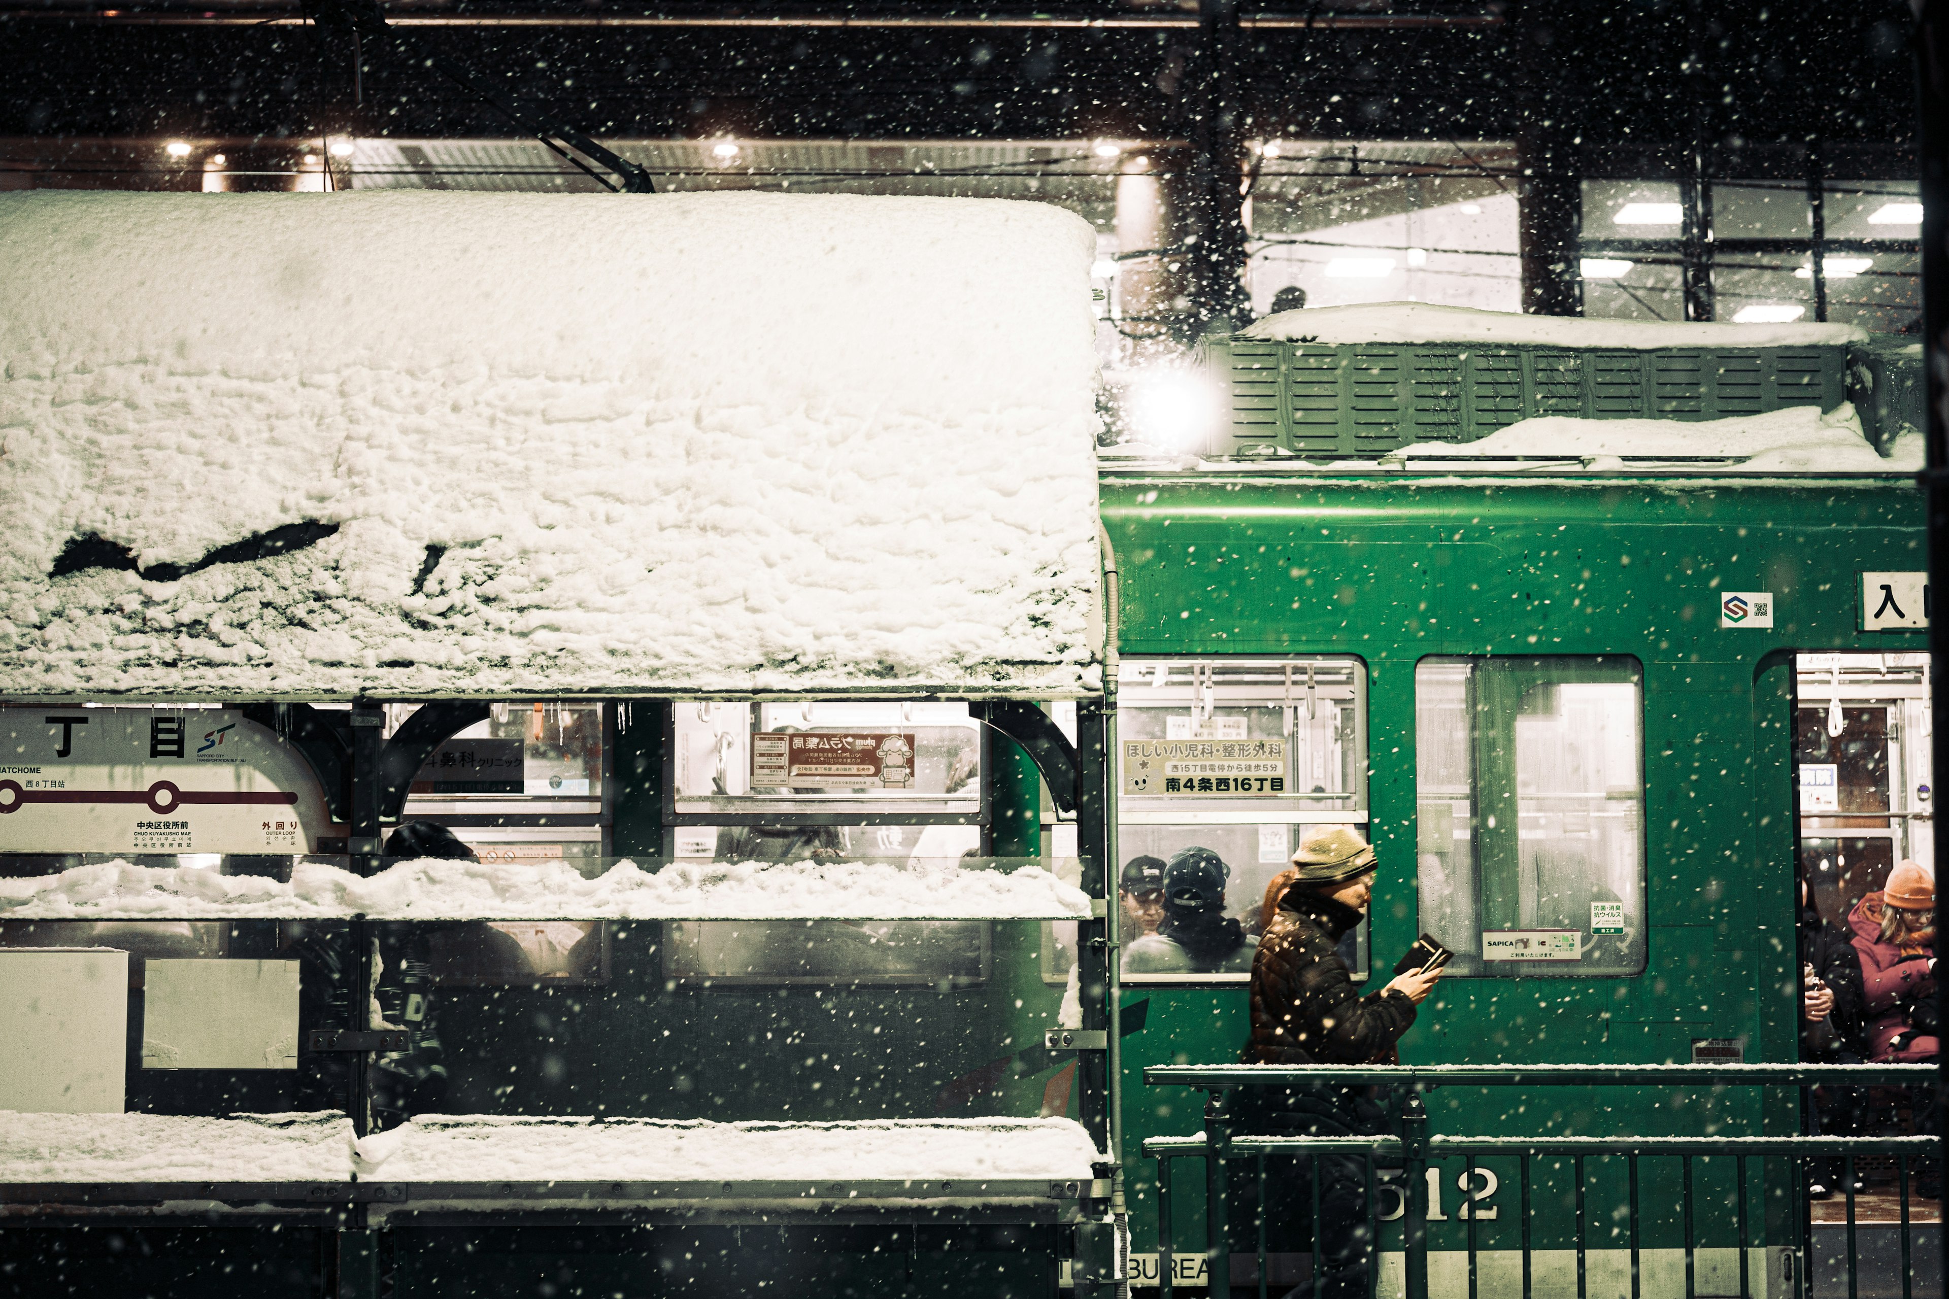
[[1093, 680], [1060, 208], [23, 193], [0, 245], [0, 695]]

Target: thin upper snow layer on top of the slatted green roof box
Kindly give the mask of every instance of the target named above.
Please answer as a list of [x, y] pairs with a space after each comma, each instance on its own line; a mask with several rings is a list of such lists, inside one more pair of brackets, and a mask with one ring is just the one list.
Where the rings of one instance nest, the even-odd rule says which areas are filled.
[[1376, 302], [1280, 312], [1253, 321], [1247, 339], [1306, 343], [1499, 343], [1540, 347], [1844, 347], [1867, 341], [1857, 325], [1688, 325], [1583, 315], [1518, 315], [1431, 302]]

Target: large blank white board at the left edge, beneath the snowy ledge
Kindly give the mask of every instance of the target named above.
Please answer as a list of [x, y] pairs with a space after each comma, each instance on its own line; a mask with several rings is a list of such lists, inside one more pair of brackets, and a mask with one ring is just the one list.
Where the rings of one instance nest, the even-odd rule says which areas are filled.
[[121, 1114], [129, 952], [0, 950], [0, 1110]]

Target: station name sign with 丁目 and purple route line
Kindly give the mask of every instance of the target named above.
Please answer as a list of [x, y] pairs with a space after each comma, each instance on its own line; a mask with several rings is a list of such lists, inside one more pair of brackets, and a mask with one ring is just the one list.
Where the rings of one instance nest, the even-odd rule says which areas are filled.
[[310, 763], [228, 709], [6, 707], [0, 742], [6, 853], [318, 853], [333, 834]]

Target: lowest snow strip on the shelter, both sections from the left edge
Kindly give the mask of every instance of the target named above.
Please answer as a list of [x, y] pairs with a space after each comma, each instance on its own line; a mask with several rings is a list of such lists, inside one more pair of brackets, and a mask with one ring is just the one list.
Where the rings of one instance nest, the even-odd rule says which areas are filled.
[[[704, 1182], [1058, 1178], [1099, 1161], [1066, 1118], [713, 1124], [423, 1114], [353, 1137], [343, 1114], [18, 1114], [0, 1182]], [[971, 1188], [973, 1190], [973, 1188]]]

